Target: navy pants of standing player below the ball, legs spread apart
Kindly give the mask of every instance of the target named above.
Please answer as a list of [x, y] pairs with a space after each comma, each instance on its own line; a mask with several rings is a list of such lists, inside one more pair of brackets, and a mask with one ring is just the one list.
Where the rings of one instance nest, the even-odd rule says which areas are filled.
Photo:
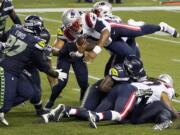
[[[71, 62], [66, 58], [59, 58], [57, 68], [62, 69], [62, 71], [67, 73], [67, 75], [69, 76], [69, 70], [71, 65], [73, 67], [78, 85], [81, 88], [80, 99], [82, 99], [88, 87], [88, 69], [86, 63], [84, 63], [82, 59]], [[52, 93], [50, 96], [51, 102], [54, 102], [56, 100], [56, 98], [62, 92], [63, 88], [66, 86], [67, 82], [68, 82], [68, 78], [65, 79], [64, 81], [58, 80], [58, 84], [55, 85], [52, 89]]]

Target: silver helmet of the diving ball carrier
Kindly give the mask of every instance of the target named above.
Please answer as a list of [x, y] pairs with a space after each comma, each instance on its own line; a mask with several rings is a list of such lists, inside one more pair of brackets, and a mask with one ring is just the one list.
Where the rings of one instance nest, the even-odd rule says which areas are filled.
[[75, 32], [78, 32], [81, 28], [81, 15], [77, 9], [68, 9], [64, 11], [62, 15], [63, 25]]

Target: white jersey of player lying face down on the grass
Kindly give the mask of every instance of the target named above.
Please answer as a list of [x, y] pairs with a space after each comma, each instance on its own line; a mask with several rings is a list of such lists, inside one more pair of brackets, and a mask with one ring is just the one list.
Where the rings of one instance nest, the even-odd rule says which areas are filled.
[[147, 100], [147, 104], [153, 103], [155, 101], [160, 101], [162, 92], [167, 93], [169, 100], [172, 100], [173, 96], [175, 95], [175, 90], [173, 88], [167, 87], [164, 83], [154, 84], [154, 82], [152, 81], [144, 81], [134, 82], [131, 84], [135, 86], [137, 89], [152, 90], [153, 94]]

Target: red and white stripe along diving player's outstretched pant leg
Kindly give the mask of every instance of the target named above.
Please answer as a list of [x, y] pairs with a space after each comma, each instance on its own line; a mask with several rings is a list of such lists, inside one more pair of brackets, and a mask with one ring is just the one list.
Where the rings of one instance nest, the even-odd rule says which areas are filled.
[[127, 24], [111, 23], [111, 27], [119, 27], [119, 28], [126, 28], [126, 29], [130, 29], [130, 30], [135, 30], [135, 31], [141, 31], [141, 27], [131, 26], [131, 25], [127, 25]]

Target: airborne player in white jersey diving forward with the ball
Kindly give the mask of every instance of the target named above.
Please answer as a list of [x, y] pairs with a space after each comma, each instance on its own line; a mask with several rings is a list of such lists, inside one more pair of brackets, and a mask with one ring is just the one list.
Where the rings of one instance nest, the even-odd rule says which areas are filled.
[[[159, 25], [144, 24], [140, 27], [108, 23], [90, 12], [80, 15], [76, 9], [66, 10], [62, 15], [62, 22], [65, 26], [64, 35], [69, 42], [76, 42], [79, 37], [91, 38], [97, 41], [94, 49], [88, 52], [87, 59], [94, 59], [104, 47], [115, 54], [124, 56], [125, 54], [122, 54], [121, 50], [128, 45], [121, 37], [134, 38], [157, 31], [167, 32], [173, 37], [179, 36], [175, 28], [164, 22], [161, 22]], [[132, 54], [130, 49], [125, 50]]]

